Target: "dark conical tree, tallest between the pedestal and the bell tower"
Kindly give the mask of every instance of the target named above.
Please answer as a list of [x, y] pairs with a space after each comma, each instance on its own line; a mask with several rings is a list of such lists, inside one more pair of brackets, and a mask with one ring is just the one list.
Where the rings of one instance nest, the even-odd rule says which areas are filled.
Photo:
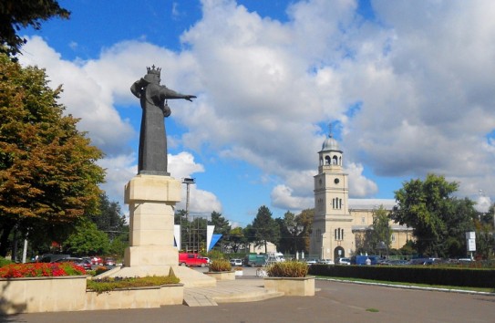
[[253, 220], [253, 231], [256, 245], [264, 245], [264, 252], [267, 252], [267, 243], [278, 244], [280, 239], [279, 225], [273, 220], [272, 212], [266, 206], [261, 206]]

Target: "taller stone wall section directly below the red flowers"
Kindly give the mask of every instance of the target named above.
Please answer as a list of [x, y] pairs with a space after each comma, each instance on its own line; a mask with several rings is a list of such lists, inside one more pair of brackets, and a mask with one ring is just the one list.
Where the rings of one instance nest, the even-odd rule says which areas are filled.
[[5, 314], [77, 311], [85, 307], [87, 276], [0, 278]]

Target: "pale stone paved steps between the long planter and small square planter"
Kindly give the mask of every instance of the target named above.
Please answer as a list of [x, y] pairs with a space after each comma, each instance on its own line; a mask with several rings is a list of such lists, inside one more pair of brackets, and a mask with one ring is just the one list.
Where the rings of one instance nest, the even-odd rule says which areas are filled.
[[284, 293], [264, 289], [263, 279], [235, 279], [217, 281], [216, 287], [184, 288], [184, 305], [211, 307], [218, 303], [254, 302], [282, 296]]

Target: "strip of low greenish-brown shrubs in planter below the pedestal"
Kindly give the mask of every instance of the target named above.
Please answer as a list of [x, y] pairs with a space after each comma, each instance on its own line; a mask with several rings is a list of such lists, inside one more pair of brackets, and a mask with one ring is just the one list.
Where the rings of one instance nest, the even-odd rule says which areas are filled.
[[105, 277], [102, 279], [88, 279], [87, 288], [101, 294], [115, 289], [153, 287], [178, 284], [176, 276], [146, 276], [146, 277]]

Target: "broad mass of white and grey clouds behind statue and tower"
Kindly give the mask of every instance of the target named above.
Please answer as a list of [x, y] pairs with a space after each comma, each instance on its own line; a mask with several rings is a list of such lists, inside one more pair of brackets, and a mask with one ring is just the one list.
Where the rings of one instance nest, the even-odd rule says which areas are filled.
[[[295, 2], [284, 23], [234, 1], [202, 4], [180, 52], [134, 40], [68, 62], [33, 37], [21, 61], [64, 83], [68, 111], [83, 117], [81, 127], [110, 158], [127, 162], [122, 142], [137, 136], [119, 117], [137, 105], [129, 86], [144, 67], [162, 67], [162, 83], [179, 91], [187, 84], [199, 97], [173, 103], [173, 118], [187, 129], [173, 144], [203, 161], [259, 168], [275, 179], [272, 203], [281, 209], [311, 205], [319, 125], [333, 120], [342, 124], [354, 197], [378, 192], [365, 173], [428, 172], [459, 180], [459, 193], [495, 195], [495, 3], [376, 1], [376, 23], [358, 16], [351, 0]], [[170, 157], [170, 170], [178, 178], [208, 172], [191, 154]], [[194, 193], [191, 209], [222, 208], [212, 193]]]

